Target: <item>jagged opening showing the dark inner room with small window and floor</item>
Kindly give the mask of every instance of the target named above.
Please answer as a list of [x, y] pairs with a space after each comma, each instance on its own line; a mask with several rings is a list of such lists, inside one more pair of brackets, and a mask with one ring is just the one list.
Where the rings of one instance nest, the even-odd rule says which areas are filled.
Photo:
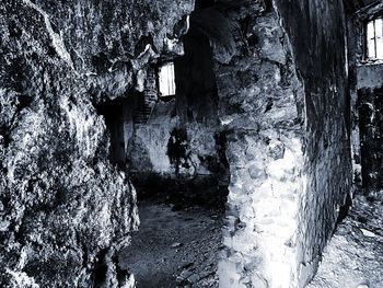
[[194, 22], [213, 2], [197, 3], [181, 37], [182, 56], [144, 68], [142, 92], [98, 107], [111, 136], [109, 160], [137, 191], [140, 228], [119, 257], [137, 287], [218, 281], [230, 182], [227, 134], [210, 39]]

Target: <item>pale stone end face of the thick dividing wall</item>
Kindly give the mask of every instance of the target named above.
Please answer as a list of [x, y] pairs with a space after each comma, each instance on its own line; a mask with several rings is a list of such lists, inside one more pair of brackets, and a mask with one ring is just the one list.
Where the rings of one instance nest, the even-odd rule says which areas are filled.
[[303, 93], [278, 15], [265, 9], [219, 10], [236, 44], [216, 72], [231, 172], [222, 287], [298, 283]]

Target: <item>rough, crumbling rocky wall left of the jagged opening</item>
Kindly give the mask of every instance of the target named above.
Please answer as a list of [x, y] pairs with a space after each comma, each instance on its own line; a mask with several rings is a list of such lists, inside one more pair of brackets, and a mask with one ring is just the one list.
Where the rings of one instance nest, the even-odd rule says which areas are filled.
[[94, 106], [139, 88], [141, 68], [176, 47], [173, 26], [192, 9], [0, 3], [1, 287], [132, 285], [115, 255], [138, 224], [135, 189], [107, 161]]

